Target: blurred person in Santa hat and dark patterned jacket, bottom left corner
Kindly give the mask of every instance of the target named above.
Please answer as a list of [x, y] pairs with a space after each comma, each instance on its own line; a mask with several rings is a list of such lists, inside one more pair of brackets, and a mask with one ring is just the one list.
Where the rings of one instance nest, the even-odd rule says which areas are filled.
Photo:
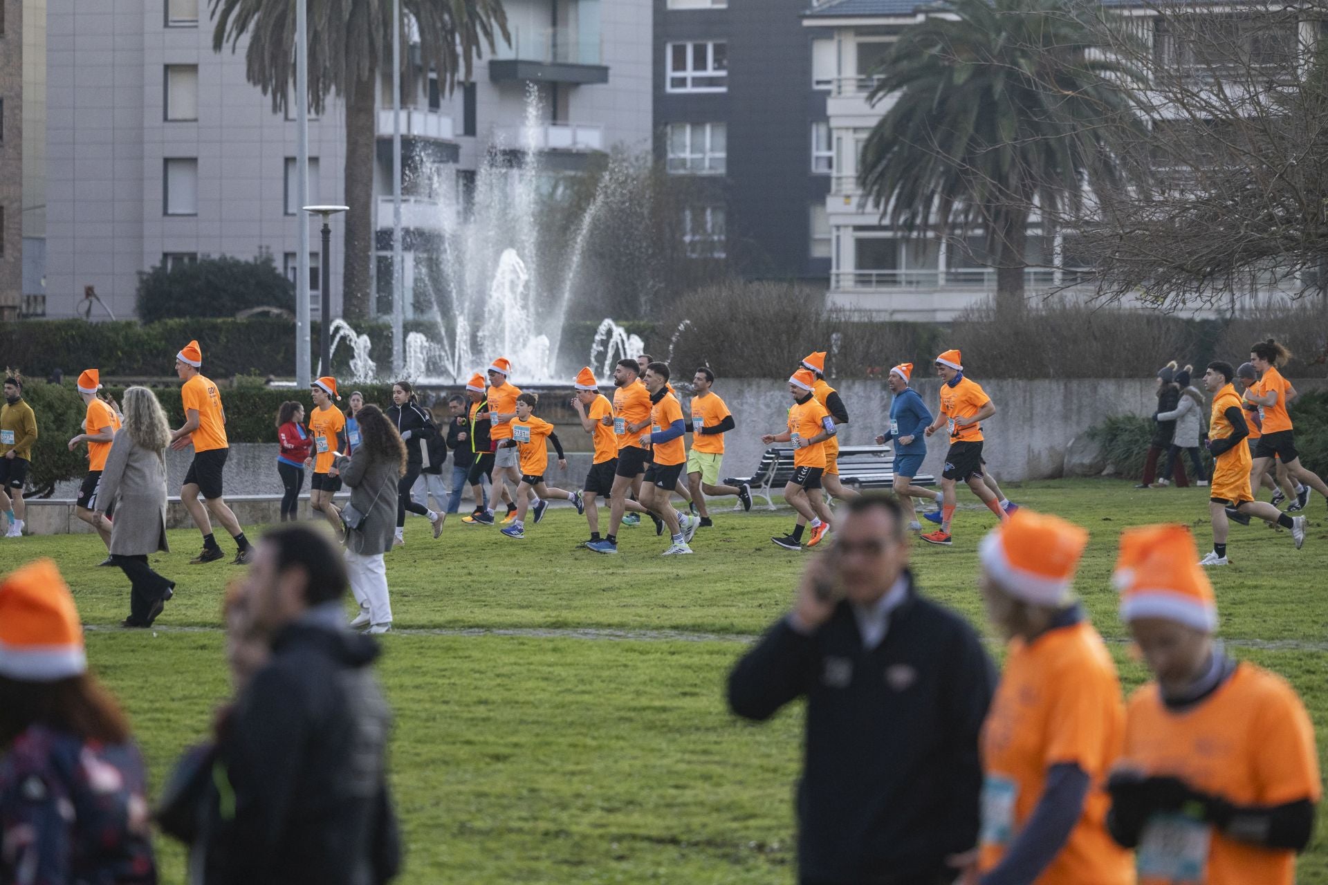
[[50, 560], [0, 584], [0, 882], [155, 885], [146, 775]]

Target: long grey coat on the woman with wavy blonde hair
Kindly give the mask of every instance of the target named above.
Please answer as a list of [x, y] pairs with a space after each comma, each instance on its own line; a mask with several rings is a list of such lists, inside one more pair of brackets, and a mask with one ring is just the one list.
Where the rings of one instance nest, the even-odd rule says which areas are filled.
[[106, 455], [97, 487], [97, 511], [105, 513], [112, 502], [116, 516], [110, 527], [114, 556], [146, 556], [169, 551], [166, 544], [166, 460], [163, 452], [143, 448], [124, 427]]

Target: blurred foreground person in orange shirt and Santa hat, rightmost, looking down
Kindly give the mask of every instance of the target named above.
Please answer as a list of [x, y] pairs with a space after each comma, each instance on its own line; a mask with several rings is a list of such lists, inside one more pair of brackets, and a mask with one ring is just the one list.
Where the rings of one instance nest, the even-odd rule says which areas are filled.
[[1292, 885], [1323, 793], [1304, 703], [1214, 638], [1190, 529], [1122, 535], [1117, 575], [1121, 618], [1154, 681], [1126, 707], [1106, 784], [1112, 837], [1135, 849], [1139, 885]]

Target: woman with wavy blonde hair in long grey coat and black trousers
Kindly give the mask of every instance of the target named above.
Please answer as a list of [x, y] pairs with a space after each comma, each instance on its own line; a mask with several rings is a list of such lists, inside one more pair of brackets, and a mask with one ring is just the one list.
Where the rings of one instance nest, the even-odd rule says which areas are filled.
[[121, 626], [151, 626], [167, 600], [175, 594], [175, 581], [162, 577], [147, 564], [151, 553], [170, 552], [166, 543], [166, 446], [170, 425], [157, 395], [147, 387], [125, 391], [124, 426], [106, 455], [97, 492], [97, 515], [112, 506], [116, 523], [110, 527], [110, 560], [131, 585], [129, 617]]

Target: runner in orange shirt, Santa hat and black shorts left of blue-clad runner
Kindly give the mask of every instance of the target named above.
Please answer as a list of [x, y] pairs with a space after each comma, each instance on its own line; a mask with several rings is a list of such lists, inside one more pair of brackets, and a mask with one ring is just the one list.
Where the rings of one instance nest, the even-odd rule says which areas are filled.
[[793, 407], [789, 409], [789, 429], [782, 434], [765, 434], [761, 442], [769, 446], [777, 442], [793, 443], [793, 476], [784, 487], [784, 500], [802, 516], [793, 524], [793, 532], [772, 537], [776, 545], [786, 551], [802, 549], [802, 531], [806, 523], [821, 517], [830, 523], [830, 508], [821, 495], [821, 479], [826, 468], [825, 441], [834, 437], [834, 418], [814, 395], [817, 378], [810, 369], [798, 369], [789, 378], [789, 395]]

